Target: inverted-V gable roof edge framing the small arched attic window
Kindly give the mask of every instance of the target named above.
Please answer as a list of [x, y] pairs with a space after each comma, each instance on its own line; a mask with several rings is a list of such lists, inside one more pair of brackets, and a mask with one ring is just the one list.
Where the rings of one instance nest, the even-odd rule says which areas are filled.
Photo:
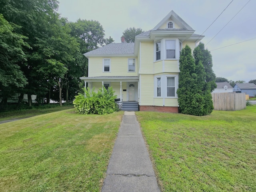
[[[192, 27], [190, 27], [180, 16], [178, 16], [173, 10], [165, 16], [165, 18], [162, 19], [152, 30], [157, 30], [160, 26], [162, 26], [164, 23], [166, 23], [169, 19], [173, 20], [178, 26], [185, 30], [194, 31]], [[170, 29], [169, 29], [170, 30]]]

